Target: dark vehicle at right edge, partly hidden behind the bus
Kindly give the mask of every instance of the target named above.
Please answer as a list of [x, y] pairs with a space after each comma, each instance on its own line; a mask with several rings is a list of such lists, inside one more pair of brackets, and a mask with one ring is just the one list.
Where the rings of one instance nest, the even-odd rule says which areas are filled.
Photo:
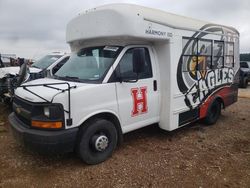
[[250, 81], [250, 62], [240, 62], [240, 87], [246, 88]]

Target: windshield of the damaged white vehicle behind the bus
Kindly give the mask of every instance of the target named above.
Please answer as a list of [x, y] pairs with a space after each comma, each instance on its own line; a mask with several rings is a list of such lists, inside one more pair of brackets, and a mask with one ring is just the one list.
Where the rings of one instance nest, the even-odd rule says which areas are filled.
[[62, 55], [46, 55], [42, 57], [41, 59], [37, 60], [32, 67], [36, 67], [39, 69], [46, 69], [49, 67], [52, 63], [54, 63], [56, 60], [58, 60]]

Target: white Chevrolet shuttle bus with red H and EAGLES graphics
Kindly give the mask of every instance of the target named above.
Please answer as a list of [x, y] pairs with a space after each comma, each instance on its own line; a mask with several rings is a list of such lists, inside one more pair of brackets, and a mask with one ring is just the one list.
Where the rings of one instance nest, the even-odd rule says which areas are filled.
[[54, 78], [15, 92], [14, 136], [38, 151], [76, 150], [88, 164], [112, 155], [124, 133], [172, 131], [237, 101], [239, 33], [159, 10], [112, 4], [72, 19], [71, 57]]

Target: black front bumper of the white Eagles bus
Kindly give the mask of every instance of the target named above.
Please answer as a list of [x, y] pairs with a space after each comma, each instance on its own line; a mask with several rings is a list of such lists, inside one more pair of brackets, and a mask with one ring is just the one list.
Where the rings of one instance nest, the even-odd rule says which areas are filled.
[[9, 115], [14, 138], [25, 147], [43, 154], [67, 153], [74, 151], [78, 128], [66, 130], [37, 130], [28, 128], [15, 115]]

